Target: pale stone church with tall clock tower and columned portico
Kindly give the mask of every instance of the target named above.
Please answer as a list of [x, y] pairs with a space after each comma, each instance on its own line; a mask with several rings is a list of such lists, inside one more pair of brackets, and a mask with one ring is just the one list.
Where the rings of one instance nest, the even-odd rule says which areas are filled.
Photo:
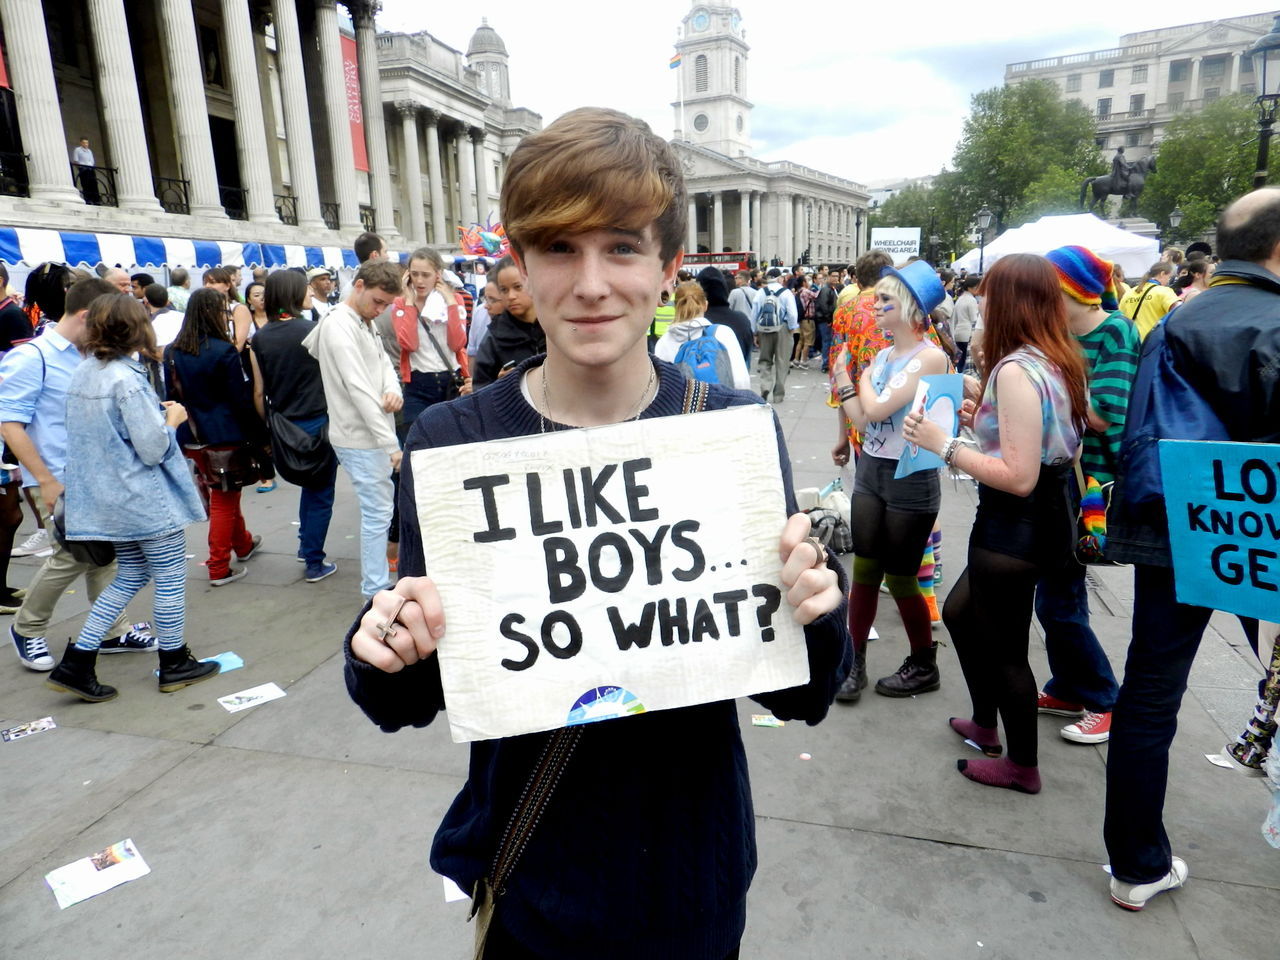
[[741, 12], [692, 0], [681, 22], [676, 147], [689, 187], [687, 252], [749, 251], [759, 262], [846, 264], [865, 248], [867, 188], [751, 156], [750, 46]]

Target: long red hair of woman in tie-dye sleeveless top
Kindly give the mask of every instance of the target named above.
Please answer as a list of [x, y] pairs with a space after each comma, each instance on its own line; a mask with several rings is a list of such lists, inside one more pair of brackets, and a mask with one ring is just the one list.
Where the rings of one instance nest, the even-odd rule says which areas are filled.
[[1068, 330], [1066, 305], [1057, 271], [1042, 256], [1011, 253], [997, 260], [982, 278], [982, 351], [987, 374], [983, 393], [996, 364], [1019, 347], [1036, 347], [1059, 369], [1071, 398], [1071, 419], [1079, 429], [1088, 422], [1084, 355]]

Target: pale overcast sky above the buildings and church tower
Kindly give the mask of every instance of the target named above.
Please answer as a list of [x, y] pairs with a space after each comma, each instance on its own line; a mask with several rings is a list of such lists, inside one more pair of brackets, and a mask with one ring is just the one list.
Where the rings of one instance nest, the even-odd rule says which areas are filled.
[[[480, 18], [511, 55], [511, 92], [550, 123], [576, 106], [612, 106], [664, 137], [675, 128], [667, 67], [691, 0], [383, 0], [380, 29], [428, 31], [466, 51]], [[451, 14], [442, 10], [451, 9]], [[751, 51], [755, 155], [868, 183], [937, 173], [951, 159], [969, 97], [1004, 82], [1005, 64], [1116, 46], [1120, 33], [1254, 14], [1258, 4], [737, 4]], [[1147, 10], [1144, 14], [1143, 10]], [[1112, 23], [1103, 23], [1120, 10]], [[1158, 10], [1158, 19], [1152, 13]], [[901, 14], [901, 15], [900, 15]]]

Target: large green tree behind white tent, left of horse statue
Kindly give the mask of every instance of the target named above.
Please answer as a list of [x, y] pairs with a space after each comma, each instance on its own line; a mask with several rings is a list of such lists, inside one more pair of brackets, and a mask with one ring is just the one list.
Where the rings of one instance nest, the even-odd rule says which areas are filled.
[[1037, 79], [975, 93], [956, 145], [956, 186], [974, 210], [986, 204], [998, 230], [1036, 204], [1056, 204], [1060, 187], [1105, 170], [1094, 145], [1093, 115], [1064, 101], [1052, 81]]

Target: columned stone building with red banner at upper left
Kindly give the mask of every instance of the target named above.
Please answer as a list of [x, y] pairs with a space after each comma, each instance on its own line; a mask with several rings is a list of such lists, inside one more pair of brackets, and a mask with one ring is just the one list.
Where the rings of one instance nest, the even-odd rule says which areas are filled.
[[378, 33], [379, 8], [0, 0], [0, 225], [454, 246], [541, 118], [490, 27], [463, 54]]

